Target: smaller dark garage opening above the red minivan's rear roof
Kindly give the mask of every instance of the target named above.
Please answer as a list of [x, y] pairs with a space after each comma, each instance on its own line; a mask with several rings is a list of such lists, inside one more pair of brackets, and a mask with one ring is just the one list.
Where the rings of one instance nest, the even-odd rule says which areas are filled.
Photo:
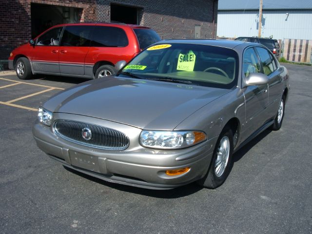
[[137, 8], [111, 4], [111, 22], [137, 24]]

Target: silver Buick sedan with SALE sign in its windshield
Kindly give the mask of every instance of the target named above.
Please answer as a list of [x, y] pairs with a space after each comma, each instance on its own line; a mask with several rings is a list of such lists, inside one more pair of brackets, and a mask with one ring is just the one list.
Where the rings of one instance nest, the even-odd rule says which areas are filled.
[[214, 189], [235, 151], [283, 122], [288, 71], [261, 44], [164, 40], [116, 69], [39, 107], [37, 145], [65, 167], [143, 188]]

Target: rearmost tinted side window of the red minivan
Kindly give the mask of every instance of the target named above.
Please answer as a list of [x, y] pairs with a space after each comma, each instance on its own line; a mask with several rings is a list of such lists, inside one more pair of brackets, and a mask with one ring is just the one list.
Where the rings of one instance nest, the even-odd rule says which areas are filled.
[[95, 26], [91, 46], [125, 47], [128, 44], [128, 38], [123, 29], [109, 26]]

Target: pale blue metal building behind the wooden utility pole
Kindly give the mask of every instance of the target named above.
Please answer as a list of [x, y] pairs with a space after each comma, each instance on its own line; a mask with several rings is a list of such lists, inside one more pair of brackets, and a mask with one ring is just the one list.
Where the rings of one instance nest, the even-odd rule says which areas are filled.
[[[260, 0], [219, 0], [217, 36], [258, 36]], [[312, 0], [263, 0], [261, 37], [312, 39]]]

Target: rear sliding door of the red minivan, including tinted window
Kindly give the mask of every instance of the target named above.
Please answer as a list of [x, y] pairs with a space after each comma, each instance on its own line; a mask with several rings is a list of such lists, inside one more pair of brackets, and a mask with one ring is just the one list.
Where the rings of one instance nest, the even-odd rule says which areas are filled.
[[59, 46], [59, 70], [61, 74], [85, 75], [84, 63], [90, 49], [93, 30], [91, 25], [66, 26]]

